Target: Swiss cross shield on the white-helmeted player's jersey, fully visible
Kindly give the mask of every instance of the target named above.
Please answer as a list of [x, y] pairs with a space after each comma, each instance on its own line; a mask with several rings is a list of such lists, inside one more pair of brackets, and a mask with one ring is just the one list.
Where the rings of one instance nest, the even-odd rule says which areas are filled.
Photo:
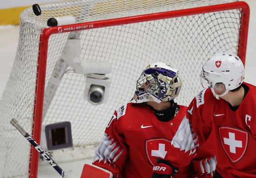
[[233, 163], [239, 161], [246, 152], [248, 145], [248, 132], [222, 126], [219, 127], [219, 136], [222, 147]]

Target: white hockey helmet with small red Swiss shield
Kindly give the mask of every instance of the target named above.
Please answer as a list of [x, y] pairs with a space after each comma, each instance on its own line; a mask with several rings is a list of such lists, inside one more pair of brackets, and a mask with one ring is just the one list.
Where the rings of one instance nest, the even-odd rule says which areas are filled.
[[[217, 99], [243, 83], [244, 66], [241, 59], [232, 53], [219, 53], [211, 56], [202, 66], [201, 83], [203, 87], [211, 88]], [[217, 95], [214, 92], [216, 84], [224, 84], [225, 92]]]

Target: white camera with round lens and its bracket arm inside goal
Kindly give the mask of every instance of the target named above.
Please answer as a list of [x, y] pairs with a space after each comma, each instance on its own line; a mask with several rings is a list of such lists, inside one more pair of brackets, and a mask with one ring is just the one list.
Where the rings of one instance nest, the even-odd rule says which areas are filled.
[[[75, 34], [75, 33], [74, 33]], [[84, 99], [91, 104], [99, 105], [107, 101], [112, 66], [108, 61], [88, 61], [80, 58], [80, 39], [68, 39], [61, 53], [61, 59], [74, 69], [75, 73], [86, 77]]]

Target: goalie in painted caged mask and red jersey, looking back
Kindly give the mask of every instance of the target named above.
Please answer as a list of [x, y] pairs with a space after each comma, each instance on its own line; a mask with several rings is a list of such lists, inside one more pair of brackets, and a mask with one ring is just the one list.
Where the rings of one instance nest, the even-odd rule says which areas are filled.
[[114, 178], [190, 178], [195, 145], [187, 107], [173, 101], [181, 86], [176, 69], [148, 65], [131, 102], [116, 109], [108, 123], [93, 164]]

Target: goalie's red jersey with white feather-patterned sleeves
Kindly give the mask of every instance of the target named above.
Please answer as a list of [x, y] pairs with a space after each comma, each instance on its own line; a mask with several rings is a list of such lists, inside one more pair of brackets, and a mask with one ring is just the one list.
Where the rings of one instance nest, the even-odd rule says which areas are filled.
[[174, 178], [190, 178], [195, 145], [187, 107], [179, 108], [173, 119], [162, 122], [148, 105], [121, 106], [107, 125], [93, 164], [111, 171], [114, 178], [151, 178], [161, 157], [179, 168]]

